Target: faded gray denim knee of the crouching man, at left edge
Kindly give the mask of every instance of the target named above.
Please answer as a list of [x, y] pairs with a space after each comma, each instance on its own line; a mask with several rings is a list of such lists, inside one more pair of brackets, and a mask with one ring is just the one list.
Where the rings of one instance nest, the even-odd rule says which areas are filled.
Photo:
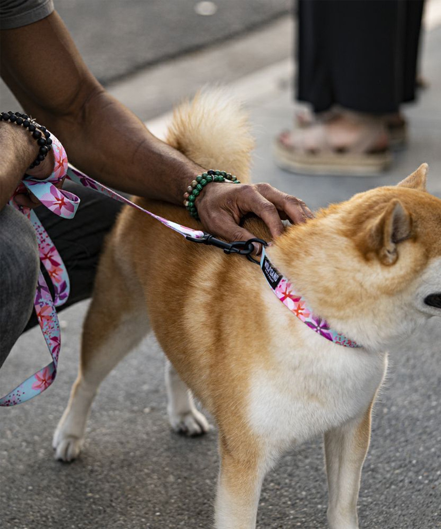
[[32, 224], [6, 205], [0, 212], [0, 366], [28, 323], [39, 270]]

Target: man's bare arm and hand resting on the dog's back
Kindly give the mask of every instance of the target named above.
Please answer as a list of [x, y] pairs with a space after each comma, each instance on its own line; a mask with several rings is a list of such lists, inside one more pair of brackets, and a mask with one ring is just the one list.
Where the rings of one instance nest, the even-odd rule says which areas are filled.
[[[204, 168], [155, 138], [104, 90], [56, 12], [1, 33], [2, 77], [25, 111], [58, 136], [75, 166], [116, 189], [182, 204], [186, 187]], [[220, 187], [208, 186], [198, 206], [205, 229], [215, 234], [248, 236], [236, 224], [245, 211], [262, 216], [273, 235], [282, 231], [277, 209], [294, 222], [303, 220], [302, 204], [273, 188], [266, 198], [256, 186]], [[236, 215], [227, 204], [238, 204]]]

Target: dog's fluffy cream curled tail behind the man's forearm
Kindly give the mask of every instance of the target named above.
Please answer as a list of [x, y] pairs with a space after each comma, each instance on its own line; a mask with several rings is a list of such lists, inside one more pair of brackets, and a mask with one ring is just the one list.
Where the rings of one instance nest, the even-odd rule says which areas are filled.
[[203, 88], [179, 105], [167, 143], [205, 169], [220, 169], [249, 181], [254, 139], [241, 104], [224, 88]]

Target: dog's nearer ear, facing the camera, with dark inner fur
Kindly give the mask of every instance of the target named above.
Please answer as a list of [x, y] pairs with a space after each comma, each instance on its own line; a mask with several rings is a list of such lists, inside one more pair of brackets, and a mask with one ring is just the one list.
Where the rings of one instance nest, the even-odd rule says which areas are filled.
[[371, 225], [371, 251], [374, 250], [383, 265], [393, 265], [398, 259], [398, 244], [411, 234], [412, 217], [400, 200], [394, 198]]

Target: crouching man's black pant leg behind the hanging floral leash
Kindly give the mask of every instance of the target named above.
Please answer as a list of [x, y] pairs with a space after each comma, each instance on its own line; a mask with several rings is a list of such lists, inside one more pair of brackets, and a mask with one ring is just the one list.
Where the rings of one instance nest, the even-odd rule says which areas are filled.
[[[116, 215], [122, 207], [120, 202], [69, 180], [65, 181], [63, 188], [81, 200], [74, 218], [61, 218], [45, 207], [35, 209], [69, 275], [69, 298], [64, 305], [57, 308], [57, 312], [92, 295], [105, 236], [112, 229]], [[46, 280], [51, 289], [50, 280]], [[33, 313], [25, 330], [37, 324], [37, 317]]]

